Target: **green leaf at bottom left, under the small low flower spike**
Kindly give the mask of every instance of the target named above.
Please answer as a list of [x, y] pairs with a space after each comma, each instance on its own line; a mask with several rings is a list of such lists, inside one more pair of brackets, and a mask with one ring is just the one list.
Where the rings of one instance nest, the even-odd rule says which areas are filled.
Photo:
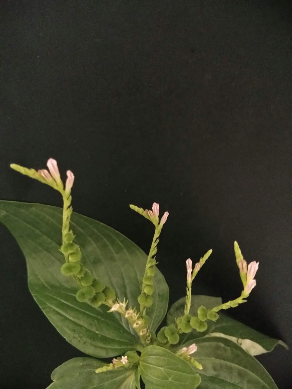
[[52, 373], [54, 381], [47, 389], [135, 389], [135, 370], [116, 370], [95, 373], [105, 363], [98, 359], [73, 358], [58, 366]]

